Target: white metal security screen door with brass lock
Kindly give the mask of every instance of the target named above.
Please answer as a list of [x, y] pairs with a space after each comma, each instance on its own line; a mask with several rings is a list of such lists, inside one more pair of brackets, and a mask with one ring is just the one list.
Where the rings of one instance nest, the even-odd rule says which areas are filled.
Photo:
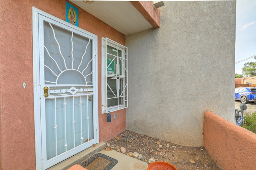
[[43, 170], [98, 143], [97, 36], [49, 16], [38, 14]]

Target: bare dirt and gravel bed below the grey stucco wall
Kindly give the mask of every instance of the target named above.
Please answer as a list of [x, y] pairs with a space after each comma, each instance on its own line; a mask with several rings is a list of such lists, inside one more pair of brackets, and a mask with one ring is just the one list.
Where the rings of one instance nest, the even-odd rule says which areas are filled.
[[145, 156], [146, 160], [155, 158], [159, 161], [169, 162], [178, 170], [220, 170], [204, 147], [184, 147], [128, 130], [117, 135], [108, 143], [111, 147], [124, 147], [127, 155], [129, 152], [138, 152]]

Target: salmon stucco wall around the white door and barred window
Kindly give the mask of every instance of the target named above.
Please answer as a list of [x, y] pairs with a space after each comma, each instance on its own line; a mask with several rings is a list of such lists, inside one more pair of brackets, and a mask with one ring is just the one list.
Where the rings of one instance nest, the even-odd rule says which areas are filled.
[[[0, 169], [34, 170], [32, 6], [65, 20], [63, 0], [0, 0]], [[72, 3], [71, 3], [72, 4]], [[79, 27], [98, 35], [99, 139], [108, 141], [126, 129], [126, 111], [107, 122], [101, 114], [101, 37], [125, 45], [125, 36], [86, 11], [79, 10]], [[26, 82], [26, 89], [22, 87]], [[112, 117], [113, 119], [113, 117]]]

